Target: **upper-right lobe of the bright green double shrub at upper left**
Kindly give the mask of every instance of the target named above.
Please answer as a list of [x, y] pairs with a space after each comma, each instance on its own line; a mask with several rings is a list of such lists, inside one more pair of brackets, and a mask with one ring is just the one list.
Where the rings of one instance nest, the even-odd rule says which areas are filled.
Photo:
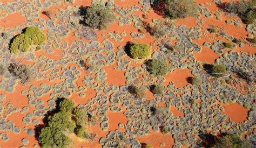
[[26, 28], [25, 34], [32, 40], [32, 45], [41, 45], [45, 41], [44, 33], [38, 27]]

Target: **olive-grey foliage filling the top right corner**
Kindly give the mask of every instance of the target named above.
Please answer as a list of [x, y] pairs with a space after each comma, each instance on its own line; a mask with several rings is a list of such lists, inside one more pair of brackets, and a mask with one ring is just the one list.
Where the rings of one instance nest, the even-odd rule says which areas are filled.
[[256, 8], [253, 1], [240, 1], [224, 3], [223, 8], [227, 12], [237, 14], [244, 23], [253, 24], [256, 18]]

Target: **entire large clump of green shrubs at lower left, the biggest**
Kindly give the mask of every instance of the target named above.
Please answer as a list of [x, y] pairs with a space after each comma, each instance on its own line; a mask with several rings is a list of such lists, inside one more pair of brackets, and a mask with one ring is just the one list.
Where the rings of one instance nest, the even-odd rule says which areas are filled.
[[46, 126], [39, 132], [38, 142], [43, 147], [67, 147], [69, 134], [75, 132], [80, 138], [88, 138], [85, 125], [89, 117], [83, 109], [74, 107], [71, 100], [62, 100], [55, 114], [46, 118]]

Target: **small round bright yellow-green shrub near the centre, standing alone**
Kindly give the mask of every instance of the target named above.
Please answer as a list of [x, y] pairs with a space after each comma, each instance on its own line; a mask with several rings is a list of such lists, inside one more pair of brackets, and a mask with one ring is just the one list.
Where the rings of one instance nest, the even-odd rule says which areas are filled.
[[132, 43], [130, 55], [133, 59], [146, 59], [151, 55], [151, 47], [147, 44]]

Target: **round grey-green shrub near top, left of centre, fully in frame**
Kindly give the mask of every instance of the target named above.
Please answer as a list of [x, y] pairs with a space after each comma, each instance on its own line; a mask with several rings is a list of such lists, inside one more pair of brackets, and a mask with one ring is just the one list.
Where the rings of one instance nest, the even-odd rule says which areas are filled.
[[100, 30], [106, 29], [115, 19], [112, 10], [102, 4], [92, 4], [91, 6], [81, 7], [80, 15], [83, 16], [83, 24], [93, 29]]

